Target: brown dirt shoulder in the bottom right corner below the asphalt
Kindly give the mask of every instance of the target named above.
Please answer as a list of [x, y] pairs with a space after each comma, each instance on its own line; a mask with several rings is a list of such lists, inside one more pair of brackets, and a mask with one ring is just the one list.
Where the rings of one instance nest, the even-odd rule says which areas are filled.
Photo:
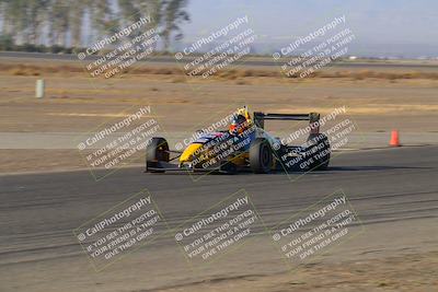
[[309, 265], [269, 276], [205, 280], [160, 291], [433, 291], [438, 252], [355, 262]]

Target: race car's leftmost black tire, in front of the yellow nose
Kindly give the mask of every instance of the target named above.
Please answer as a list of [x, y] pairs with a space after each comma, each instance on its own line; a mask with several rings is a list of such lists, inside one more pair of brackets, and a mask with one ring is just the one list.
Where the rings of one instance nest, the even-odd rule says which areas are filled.
[[146, 172], [164, 173], [163, 171], [150, 170], [160, 167], [160, 162], [169, 162], [169, 144], [164, 138], [153, 137], [146, 149]]

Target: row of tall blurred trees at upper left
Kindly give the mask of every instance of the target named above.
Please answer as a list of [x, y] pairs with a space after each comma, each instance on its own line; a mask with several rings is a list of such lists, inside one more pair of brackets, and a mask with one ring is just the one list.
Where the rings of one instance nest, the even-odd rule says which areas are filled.
[[0, 0], [0, 49], [57, 52], [83, 48], [140, 17], [162, 37], [164, 50], [181, 39], [188, 0]]

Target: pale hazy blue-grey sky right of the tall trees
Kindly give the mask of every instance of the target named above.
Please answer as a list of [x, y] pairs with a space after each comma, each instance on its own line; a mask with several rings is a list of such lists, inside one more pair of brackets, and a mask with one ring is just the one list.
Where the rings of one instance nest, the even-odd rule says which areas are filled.
[[358, 56], [438, 57], [436, 0], [189, 0], [187, 11], [184, 43], [247, 15], [258, 50], [275, 50], [345, 15]]

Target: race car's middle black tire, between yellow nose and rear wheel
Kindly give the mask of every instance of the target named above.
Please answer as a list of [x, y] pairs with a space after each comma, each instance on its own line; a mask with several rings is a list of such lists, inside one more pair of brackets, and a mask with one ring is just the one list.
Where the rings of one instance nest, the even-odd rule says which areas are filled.
[[255, 174], [269, 173], [273, 166], [273, 152], [266, 139], [257, 138], [250, 147], [250, 167]]

